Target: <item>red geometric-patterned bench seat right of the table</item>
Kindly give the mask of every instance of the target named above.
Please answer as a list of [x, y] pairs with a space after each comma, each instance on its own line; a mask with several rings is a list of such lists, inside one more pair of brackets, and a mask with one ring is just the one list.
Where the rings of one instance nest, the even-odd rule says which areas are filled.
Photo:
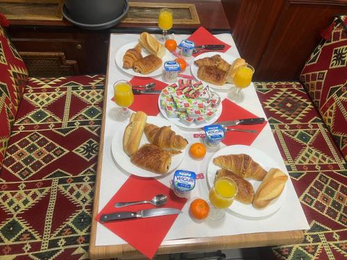
[[300, 83], [255, 83], [255, 87], [310, 224], [303, 243], [274, 247], [274, 256], [346, 259], [344, 157]]

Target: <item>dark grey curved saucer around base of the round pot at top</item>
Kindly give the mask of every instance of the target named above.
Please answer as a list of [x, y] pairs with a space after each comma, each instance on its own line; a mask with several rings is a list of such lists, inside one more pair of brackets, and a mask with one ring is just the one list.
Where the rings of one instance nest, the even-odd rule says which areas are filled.
[[83, 24], [81, 22], [75, 21], [71, 17], [69, 10], [67, 10], [66, 6], [63, 6], [62, 8], [62, 15], [65, 17], [65, 19], [67, 19], [67, 21], [71, 22], [71, 24], [74, 24], [80, 28], [83, 28], [86, 30], [102, 30], [102, 29], [110, 28], [118, 24], [119, 21], [121, 21], [121, 19], [123, 19], [123, 17], [126, 15], [126, 13], [128, 12], [128, 9], [129, 9], [128, 1], [124, 0], [124, 10], [121, 13], [121, 15], [112, 19], [111, 21], [106, 21], [103, 24]]

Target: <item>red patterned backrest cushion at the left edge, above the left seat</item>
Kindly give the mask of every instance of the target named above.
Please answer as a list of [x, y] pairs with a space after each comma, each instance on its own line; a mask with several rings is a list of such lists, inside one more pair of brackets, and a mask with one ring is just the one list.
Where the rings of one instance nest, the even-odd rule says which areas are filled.
[[0, 26], [0, 168], [26, 80], [26, 66]]

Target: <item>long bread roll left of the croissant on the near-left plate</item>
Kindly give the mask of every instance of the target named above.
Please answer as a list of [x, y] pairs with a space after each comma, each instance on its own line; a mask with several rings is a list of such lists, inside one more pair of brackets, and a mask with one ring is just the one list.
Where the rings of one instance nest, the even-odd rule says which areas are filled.
[[137, 111], [131, 115], [123, 135], [123, 150], [127, 155], [132, 155], [139, 149], [146, 120], [147, 115], [142, 111]]

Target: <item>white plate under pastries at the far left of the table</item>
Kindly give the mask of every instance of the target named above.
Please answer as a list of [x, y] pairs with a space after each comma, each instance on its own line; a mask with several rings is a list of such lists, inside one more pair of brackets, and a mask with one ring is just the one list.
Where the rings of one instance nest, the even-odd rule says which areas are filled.
[[[121, 69], [122, 71], [124, 71], [125, 73], [128, 73], [130, 75], [133, 76], [138, 76], [138, 77], [154, 77], [154, 76], [158, 76], [160, 74], [162, 74], [162, 71], [164, 69], [164, 62], [167, 62], [169, 60], [174, 60], [174, 57], [172, 56], [172, 54], [167, 51], [167, 49], [165, 48], [165, 55], [162, 58], [162, 66], [159, 67], [159, 69], [156, 69], [155, 71], [152, 71], [149, 74], [141, 74], [141, 73], [137, 73], [135, 72], [133, 69], [124, 69], [123, 68], [123, 56], [126, 53], [126, 51], [128, 51], [128, 49], [132, 49], [136, 46], [136, 44], [138, 44], [139, 42], [130, 42], [126, 45], [121, 46], [120, 49], [118, 49], [116, 56], [115, 56], [115, 60], [116, 60], [116, 64], [119, 67], [119, 69]], [[149, 55], [150, 53], [148, 53], [144, 48], [142, 48], [142, 56], [145, 57], [146, 55]]]

